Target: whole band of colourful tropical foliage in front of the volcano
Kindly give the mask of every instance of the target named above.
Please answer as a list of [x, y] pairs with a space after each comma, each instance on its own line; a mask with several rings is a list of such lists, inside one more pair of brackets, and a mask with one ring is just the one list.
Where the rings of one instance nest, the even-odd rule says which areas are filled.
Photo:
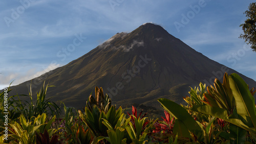
[[[8, 98], [8, 140], [1, 132], [0, 143], [255, 143], [256, 105], [254, 88], [249, 89], [237, 74], [224, 75], [213, 86], [191, 88], [186, 106], [158, 99], [164, 110], [162, 120], [148, 119], [147, 113], [124, 113], [116, 108], [102, 88], [95, 88], [83, 110], [66, 107], [65, 117], [56, 118], [60, 107], [47, 99], [47, 88], [37, 92], [37, 102]], [[1, 100], [5, 100], [0, 92]], [[16, 98], [16, 99], [15, 99]], [[3, 104], [3, 103], [2, 103]], [[0, 107], [1, 130], [5, 130], [6, 110]]]

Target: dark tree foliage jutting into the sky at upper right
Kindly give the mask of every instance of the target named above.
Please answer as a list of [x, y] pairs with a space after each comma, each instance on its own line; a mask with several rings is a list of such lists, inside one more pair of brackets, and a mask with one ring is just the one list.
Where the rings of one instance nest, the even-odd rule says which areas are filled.
[[247, 19], [240, 25], [244, 34], [241, 34], [239, 38], [243, 38], [247, 44], [251, 44], [252, 51], [256, 52], [256, 3], [251, 3], [244, 14]]

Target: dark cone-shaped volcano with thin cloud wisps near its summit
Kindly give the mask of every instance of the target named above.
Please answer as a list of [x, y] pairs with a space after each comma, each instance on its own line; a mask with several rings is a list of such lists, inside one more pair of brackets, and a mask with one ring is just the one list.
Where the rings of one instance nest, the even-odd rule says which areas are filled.
[[[214, 51], [214, 50], [213, 50]], [[66, 106], [82, 108], [95, 86], [102, 87], [117, 106], [160, 108], [159, 98], [183, 103], [190, 87], [206, 85], [224, 73], [237, 73], [195, 51], [161, 26], [145, 23], [131, 33], [117, 33], [82, 57], [31, 81], [12, 86], [27, 94], [50, 82], [48, 97]], [[239, 74], [246, 83], [256, 82]]]

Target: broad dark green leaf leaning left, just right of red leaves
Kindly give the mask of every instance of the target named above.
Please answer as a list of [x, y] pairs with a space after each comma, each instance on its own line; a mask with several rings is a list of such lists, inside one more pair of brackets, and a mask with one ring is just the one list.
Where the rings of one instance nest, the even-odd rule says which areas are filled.
[[172, 114], [176, 119], [179, 119], [179, 121], [181, 121], [190, 132], [194, 133], [198, 137], [199, 141], [203, 140], [202, 129], [186, 109], [168, 99], [161, 98], [158, 99], [158, 102], [161, 103], [161, 106], [166, 111]]

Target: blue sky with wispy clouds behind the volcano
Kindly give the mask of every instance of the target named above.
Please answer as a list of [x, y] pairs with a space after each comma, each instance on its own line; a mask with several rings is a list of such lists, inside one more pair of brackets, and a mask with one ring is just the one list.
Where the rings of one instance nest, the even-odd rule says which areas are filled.
[[0, 89], [38, 77], [116, 33], [154, 22], [208, 58], [256, 80], [256, 53], [238, 38], [254, 1], [0, 1]]

